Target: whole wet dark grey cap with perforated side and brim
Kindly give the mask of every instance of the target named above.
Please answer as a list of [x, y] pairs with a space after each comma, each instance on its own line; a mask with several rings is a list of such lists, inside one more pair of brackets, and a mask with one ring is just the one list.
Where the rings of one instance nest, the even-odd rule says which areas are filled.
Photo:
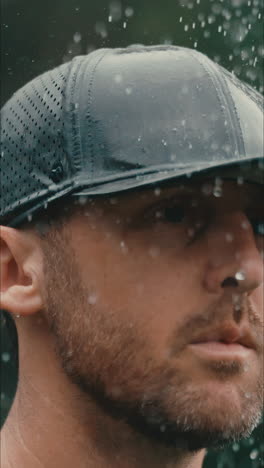
[[65, 196], [199, 174], [263, 183], [263, 98], [191, 49], [99, 49], [1, 111], [1, 224]]

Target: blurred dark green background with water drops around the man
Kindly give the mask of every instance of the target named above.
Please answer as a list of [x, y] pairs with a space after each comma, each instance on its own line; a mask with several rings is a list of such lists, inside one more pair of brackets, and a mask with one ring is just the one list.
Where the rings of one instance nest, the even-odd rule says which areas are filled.
[[[196, 48], [263, 93], [263, 0], [1, 0], [1, 105], [38, 74], [99, 47]], [[1, 314], [1, 425], [17, 385], [15, 325]], [[264, 467], [264, 424], [204, 468]]]

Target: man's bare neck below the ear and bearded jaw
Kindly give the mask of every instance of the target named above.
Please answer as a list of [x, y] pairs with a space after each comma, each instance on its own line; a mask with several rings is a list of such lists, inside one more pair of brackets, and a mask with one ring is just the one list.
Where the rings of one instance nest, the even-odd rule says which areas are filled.
[[1, 431], [2, 468], [202, 467], [204, 450], [160, 446], [105, 414], [67, 378], [43, 323], [29, 322], [18, 324], [19, 383]]

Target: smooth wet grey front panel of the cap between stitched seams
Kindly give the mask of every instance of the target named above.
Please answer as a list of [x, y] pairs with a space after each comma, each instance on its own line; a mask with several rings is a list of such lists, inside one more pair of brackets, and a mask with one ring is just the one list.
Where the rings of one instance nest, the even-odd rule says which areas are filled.
[[[87, 89], [81, 101], [87, 104]], [[92, 134], [94, 173], [100, 178], [162, 164], [211, 164], [234, 155], [215, 85], [183, 48], [111, 51], [97, 66], [89, 107], [84, 147]]]

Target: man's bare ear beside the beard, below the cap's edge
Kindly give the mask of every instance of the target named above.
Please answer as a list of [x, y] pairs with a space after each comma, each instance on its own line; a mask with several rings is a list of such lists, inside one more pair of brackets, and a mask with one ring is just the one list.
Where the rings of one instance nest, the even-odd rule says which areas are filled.
[[0, 227], [0, 307], [12, 314], [30, 315], [43, 307], [42, 250], [32, 232]]

